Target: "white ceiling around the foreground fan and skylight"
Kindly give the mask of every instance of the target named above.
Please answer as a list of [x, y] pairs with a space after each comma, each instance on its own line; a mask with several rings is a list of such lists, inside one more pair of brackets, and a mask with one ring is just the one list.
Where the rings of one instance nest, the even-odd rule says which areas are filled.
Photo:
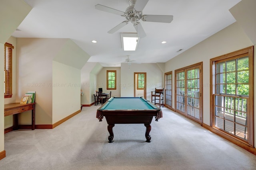
[[[235, 22], [229, 9], [241, 0], [149, 0], [143, 14], [172, 15], [171, 23], [140, 21], [146, 37], [136, 51], [123, 51], [120, 33], [136, 30], [122, 16], [95, 9], [101, 4], [125, 12], [128, 0], [25, 0], [33, 7], [14, 37], [70, 38], [91, 57], [88, 62], [120, 66], [130, 55], [138, 63], [165, 63]], [[96, 40], [97, 43], [92, 43]], [[167, 41], [162, 44], [162, 41]], [[178, 50], [183, 49], [180, 52]]]

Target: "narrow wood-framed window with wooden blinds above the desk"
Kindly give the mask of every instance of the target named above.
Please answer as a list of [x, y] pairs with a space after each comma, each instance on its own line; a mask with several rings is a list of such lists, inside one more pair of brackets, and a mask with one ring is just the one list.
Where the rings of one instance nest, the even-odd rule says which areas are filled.
[[12, 97], [12, 49], [11, 44], [4, 44], [4, 98]]

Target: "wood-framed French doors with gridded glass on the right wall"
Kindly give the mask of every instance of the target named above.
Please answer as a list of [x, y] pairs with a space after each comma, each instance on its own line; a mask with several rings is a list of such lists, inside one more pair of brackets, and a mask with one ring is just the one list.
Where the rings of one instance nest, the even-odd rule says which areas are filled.
[[175, 70], [176, 112], [202, 125], [202, 63]]

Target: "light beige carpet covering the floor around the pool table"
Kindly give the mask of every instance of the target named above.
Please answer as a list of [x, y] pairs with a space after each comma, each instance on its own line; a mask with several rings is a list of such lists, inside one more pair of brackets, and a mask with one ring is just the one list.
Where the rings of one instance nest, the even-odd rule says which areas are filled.
[[151, 143], [143, 124], [116, 124], [108, 143], [107, 123], [96, 119], [99, 106], [54, 129], [5, 134], [6, 158], [0, 170], [252, 170], [256, 156], [163, 108], [152, 120]]

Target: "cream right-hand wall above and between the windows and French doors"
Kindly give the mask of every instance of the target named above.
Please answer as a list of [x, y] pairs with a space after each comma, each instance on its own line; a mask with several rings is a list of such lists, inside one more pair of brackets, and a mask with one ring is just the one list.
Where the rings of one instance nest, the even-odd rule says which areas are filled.
[[[166, 62], [165, 72], [172, 71], [173, 80], [175, 80], [174, 70], [203, 62], [203, 123], [210, 125], [210, 59], [252, 45], [240, 25], [234, 23]], [[175, 82], [173, 89], [174, 85]], [[173, 94], [173, 102], [174, 99]], [[174, 103], [172, 105], [175, 106]]]

